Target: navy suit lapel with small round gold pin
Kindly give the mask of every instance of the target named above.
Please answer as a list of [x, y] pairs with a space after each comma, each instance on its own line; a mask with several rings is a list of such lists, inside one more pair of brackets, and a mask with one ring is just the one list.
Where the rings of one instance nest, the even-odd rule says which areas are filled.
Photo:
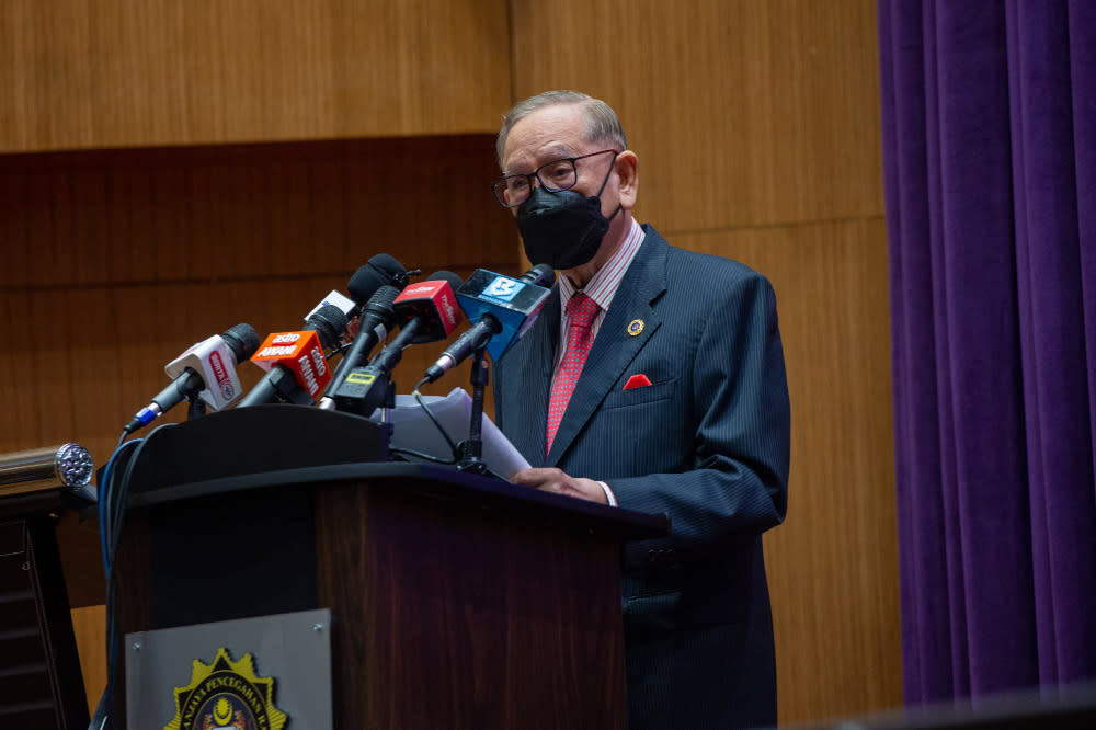
[[[571, 393], [567, 412], [563, 413], [563, 420], [552, 441], [551, 453], [546, 460], [547, 466], [559, 464], [594, 411], [605, 400], [613, 385], [661, 323], [651, 305], [666, 289], [667, 243], [653, 229], [646, 230], [647, 238], [628, 267], [624, 281], [620, 282], [620, 288], [609, 305], [586, 363], [582, 366], [582, 375], [579, 376], [579, 383]], [[558, 312], [558, 296], [556, 298]], [[637, 320], [642, 322], [642, 331], [631, 334], [629, 324]], [[559, 329], [558, 326], [556, 329]], [[551, 363], [549, 363], [548, 383], [550, 388]], [[540, 453], [544, 453], [547, 410], [546, 396], [540, 419]]]

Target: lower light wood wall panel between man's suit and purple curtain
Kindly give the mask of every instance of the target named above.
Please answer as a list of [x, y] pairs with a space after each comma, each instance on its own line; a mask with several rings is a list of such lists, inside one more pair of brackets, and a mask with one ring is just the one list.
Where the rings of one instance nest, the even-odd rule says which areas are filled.
[[791, 481], [765, 549], [781, 720], [902, 699], [886, 235], [871, 218], [674, 237], [776, 288]]

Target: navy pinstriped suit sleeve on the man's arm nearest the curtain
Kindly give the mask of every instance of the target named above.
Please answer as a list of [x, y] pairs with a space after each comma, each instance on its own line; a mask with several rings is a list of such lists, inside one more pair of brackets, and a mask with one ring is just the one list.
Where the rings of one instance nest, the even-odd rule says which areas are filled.
[[[607, 479], [620, 506], [670, 515], [678, 539], [740, 539], [783, 522], [790, 414], [776, 296], [751, 272], [701, 307], [692, 354], [693, 468]], [[674, 424], [666, 424], [674, 427]]]

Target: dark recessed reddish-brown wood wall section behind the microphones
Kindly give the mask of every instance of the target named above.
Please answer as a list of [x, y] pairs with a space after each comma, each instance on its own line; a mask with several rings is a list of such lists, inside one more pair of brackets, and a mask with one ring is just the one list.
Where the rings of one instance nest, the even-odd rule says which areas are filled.
[[[0, 453], [77, 441], [105, 464], [165, 363], [238, 322], [300, 327], [376, 253], [424, 275], [515, 273], [491, 149], [478, 135], [0, 156], [0, 321], [20, 343], [0, 354]], [[407, 351], [402, 391], [443, 346]]]

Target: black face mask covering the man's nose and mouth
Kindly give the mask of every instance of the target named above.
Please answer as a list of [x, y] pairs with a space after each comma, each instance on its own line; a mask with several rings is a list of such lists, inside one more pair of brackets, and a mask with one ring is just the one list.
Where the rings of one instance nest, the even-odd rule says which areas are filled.
[[534, 265], [574, 269], [597, 254], [609, 221], [620, 212], [617, 205], [608, 218], [602, 215], [601, 195], [612, 174], [610, 167], [597, 195], [592, 197], [583, 197], [573, 190], [550, 193], [538, 185], [518, 206], [517, 230], [525, 243], [525, 255]]

